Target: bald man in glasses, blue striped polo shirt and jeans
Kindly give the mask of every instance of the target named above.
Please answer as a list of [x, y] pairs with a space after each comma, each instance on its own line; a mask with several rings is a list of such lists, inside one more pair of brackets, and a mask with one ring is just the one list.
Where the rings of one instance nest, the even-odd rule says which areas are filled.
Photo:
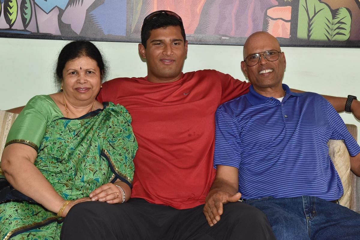
[[249, 36], [241, 67], [252, 86], [217, 109], [217, 173], [204, 214], [212, 226], [224, 203], [242, 198], [266, 214], [278, 240], [360, 239], [360, 214], [334, 203], [343, 187], [327, 142], [344, 140], [357, 176], [360, 146], [327, 100], [282, 83], [285, 66], [273, 36]]

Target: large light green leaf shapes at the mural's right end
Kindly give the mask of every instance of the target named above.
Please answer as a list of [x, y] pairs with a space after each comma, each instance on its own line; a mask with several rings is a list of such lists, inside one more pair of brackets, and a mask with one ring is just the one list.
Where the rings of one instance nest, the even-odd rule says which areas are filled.
[[319, 0], [300, 0], [297, 37], [307, 40], [346, 41], [351, 15], [347, 8], [332, 10]]

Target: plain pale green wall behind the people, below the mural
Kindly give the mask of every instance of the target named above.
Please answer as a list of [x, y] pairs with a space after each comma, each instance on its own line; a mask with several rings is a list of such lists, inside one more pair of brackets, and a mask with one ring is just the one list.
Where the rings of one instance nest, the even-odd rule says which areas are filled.
[[[53, 83], [55, 58], [68, 41], [0, 38], [0, 109], [26, 104], [34, 95], [57, 91]], [[138, 44], [95, 42], [109, 63], [108, 79], [140, 77], [147, 72]], [[240, 69], [242, 46], [189, 45], [184, 72], [217, 69], [244, 80]], [[287, 59], [284, 83], [294, 89], [360, 98], [360, 49], [283, 47]], [[341, 113], [346, 123], [360, 121]]]

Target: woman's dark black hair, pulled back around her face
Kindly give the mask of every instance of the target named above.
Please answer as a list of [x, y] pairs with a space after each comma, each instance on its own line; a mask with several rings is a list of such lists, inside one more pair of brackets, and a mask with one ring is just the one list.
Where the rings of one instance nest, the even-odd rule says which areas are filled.
[[55, 77], [56, 82], [59, 86], [61, 85], [61, 82], [63, 80], [63, 70], [65, 68], [65, 64], [71, 60], [80, 58], [82, 56], [87, 56], [93, 59], [98, 64], [101, 80], [103, 80], [106, 66], [104, 64], [103, 57], [99, 49], [92, 42], [89, 41], [73, 41], [63, 47], [58, 57]]

